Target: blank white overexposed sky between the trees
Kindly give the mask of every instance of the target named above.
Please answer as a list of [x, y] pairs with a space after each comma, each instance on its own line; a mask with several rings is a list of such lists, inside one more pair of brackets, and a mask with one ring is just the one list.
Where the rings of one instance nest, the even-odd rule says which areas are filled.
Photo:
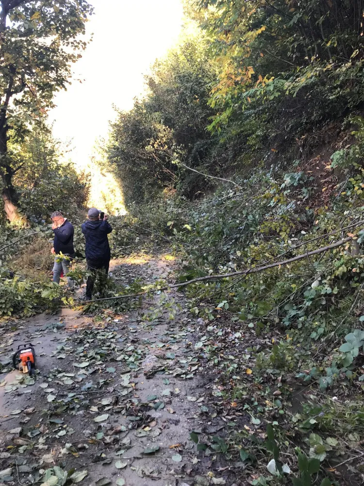
[[127, 110], [143, 91], [143, 74], [175, 45], [182, 27], [180, 0], [90, 0], [95, 15], [87, 24], [93, 41], [74, 65], [67, 91], [57, 94], [50, 112], [53, 134], [73, 139], [70, 155], [85, 166], [95, 140], [106, 137], [115, 104]]

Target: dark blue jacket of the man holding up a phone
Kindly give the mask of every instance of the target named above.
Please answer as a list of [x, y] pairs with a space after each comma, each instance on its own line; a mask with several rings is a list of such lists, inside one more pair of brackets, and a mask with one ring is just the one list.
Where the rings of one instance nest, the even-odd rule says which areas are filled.
[[87, 260], [110, 260], [110, 245], [107, 235], [113, 228], [107, 221], [85, 221], [81, 226], [86, 240]]

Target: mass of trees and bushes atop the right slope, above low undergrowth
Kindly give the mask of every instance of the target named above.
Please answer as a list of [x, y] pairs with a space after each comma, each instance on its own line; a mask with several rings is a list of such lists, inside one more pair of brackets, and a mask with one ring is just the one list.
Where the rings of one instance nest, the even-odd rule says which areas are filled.
[[185, 166], [288, 173], [363, 106], [359, 1], [185, 3], [199, 33], [155, 63], [145, 98], [113, 125], [109, 161], [127, 204], [200, 197], [211, 179]]

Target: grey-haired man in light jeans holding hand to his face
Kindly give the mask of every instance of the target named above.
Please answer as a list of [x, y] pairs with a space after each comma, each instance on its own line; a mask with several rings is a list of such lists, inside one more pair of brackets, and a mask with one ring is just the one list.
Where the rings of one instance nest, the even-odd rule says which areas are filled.
[[[69, 268], [72, 267], [72, 259], [75, 257], [73, 248], [74, 228], [59, 211], [54, 211], [50, 216], [52, 220], [52, 230], [54, 233], [53, 248], [51, 252], [55, 255], [53, 266], [53, 282], [59, 284], [61, 273], [67, 275]], [[60, 257], [60, 254], [67, 258]], [[74, 290], [74, 281], [67, 277], [68, 287]]]

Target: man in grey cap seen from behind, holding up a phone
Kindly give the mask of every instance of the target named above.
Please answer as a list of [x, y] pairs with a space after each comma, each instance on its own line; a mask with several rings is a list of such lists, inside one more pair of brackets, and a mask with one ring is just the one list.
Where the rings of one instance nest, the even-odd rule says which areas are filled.
[[107, 235], [113, 231], [113, 228], [107, 222], [107, 214], [104, 215], [103, 220], [100, 220], [99, 209], [89, 209], [87, 216], [88, 221], [85, 221], [81, 228], [86, 240], [87, 270], [91, 272], [86, 283], [86, 299], [91, 300], [97, 276], [99, 276], [100, 294], [103, 293], [110, 264], [110, 245]]

